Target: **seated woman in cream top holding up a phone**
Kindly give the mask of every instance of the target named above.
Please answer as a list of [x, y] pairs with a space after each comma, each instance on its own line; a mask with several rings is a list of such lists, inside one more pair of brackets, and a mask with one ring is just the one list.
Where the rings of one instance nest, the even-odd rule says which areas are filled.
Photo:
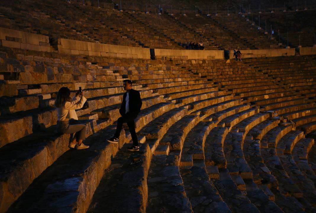
[[[81, 95], [81, 97], [79, 97]], [[75, 97], [70, 98], [70, 89], [62, 87], [59, 89], [55, 106], [57, 107], [57, 131], [61, 134], [75, 133], [73, 140], [69, 142], [69, 148], [87, 149], [89, 146], [82, 143], [86, 139], [86, 125], [76, 124], [69, 125], [70, 119], [78, 120], [76, 109], [81, 109], [87, 99], [83, 96], [81, 88]]]

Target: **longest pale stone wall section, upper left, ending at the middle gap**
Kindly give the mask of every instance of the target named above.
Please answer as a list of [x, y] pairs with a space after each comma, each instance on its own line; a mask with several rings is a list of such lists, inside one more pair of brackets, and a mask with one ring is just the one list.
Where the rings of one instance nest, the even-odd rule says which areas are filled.
[[93, 55], [112, 58], [150, 59], [148, 48], [58, 39], [58, 51], [72, 55]]

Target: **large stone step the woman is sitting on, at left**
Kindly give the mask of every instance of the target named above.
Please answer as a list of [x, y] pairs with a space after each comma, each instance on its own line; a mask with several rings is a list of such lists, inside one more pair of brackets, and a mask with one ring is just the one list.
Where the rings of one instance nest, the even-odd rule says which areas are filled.
[[[85, 124], [86, 136], [98, 131], [95, 120], [82, 120], [72, 124]], [[53, 164], [59, 156], [69, 150], [69, 134], [55, 133], [56, 126], [52, 126], [38, 133], [33, 133], [1, 147], [3, 184], [9, 184], [13, 191], [3, 191], [8, 198], [5, 208], [8, 208], [48, 166]], [[53, 147], [59, 147], [55, 149]], [[25, 151], [29, 150], [29, 151]], [[20, 156], [19, 160], [15, 157]], [[15, 159], [15, 160], [14, 160]], [[40, 160], [39, 160], [40, 159]], [[43, 160], [46, 159], [46, 160]], [[28, 176], [28, 179], [22, 178]], [[21, 183], [19, 183], [23, 180]], [[10, 183], [9, 181], [14, 181]], [[19, 184], [17, 184], [19, 183]], [[4, 189], [3, 189], [4, 190]]]

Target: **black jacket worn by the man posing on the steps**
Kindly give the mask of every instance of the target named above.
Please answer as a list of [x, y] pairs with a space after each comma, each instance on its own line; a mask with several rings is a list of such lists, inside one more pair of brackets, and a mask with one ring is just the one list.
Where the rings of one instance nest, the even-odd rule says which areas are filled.
[[[125, 98], [126, 98], [127, 92], [123, 95], [123, 101], [121, 108], [119, 109], [119, 113], [123, 116], [125, 115]], [[131, 89], [129, 93], [129, 107], [130, 112], [132, 115], [137, 116], [137, 114], [140, 112], [140, 108], [142, 107], [142, 99], [140, 98], [140, 94], [137, 90]]]

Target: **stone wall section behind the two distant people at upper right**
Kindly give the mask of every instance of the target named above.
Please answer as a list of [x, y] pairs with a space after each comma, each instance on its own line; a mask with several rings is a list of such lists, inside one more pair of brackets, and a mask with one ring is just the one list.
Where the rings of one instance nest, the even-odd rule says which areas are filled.
[[[244, 49], [240, 50], [242, 58], [262, 58], [295, 55], [295, 49]], [[234, 50], [230, 50], [229, 58], [234, 58]]]

